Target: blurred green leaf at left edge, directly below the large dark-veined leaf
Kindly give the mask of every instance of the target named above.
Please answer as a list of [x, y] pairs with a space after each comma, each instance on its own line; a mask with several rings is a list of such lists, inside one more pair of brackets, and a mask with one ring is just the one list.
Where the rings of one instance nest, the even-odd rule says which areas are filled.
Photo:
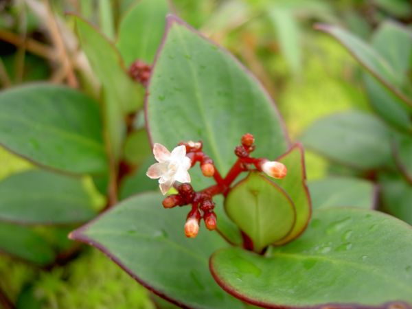
[[0, 220], [24, 224], [70, 224], [95, 216], [82, 179], [41, 170], [0, 182]]

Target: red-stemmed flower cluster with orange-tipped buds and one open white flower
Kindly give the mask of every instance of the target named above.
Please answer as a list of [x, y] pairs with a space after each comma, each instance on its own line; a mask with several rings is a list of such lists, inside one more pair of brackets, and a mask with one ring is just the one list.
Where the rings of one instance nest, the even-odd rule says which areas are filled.
[[[177, 194], [171, 194], [163, 200], [163, 207], [192, 205], [185, 223], [185, 235], [188, 238], [197, 236], [202, 219], [205, 221], [207, 229], [210, 231], [216, 229], [217, 218], [212, 198], [216, 194], [226, 196], [231, 184], [241, 172], [259, 170], [275, 179], [282, 179], [286, 176], [287, 170], [283, 163], [250, 156], [251, 152], [255, 150], [253, 135], [247, 133], [242, 136], [241, 141], [241, 145], [235, 148], [238, 160], [233, 164], [225, 178], [220, 176], [214, 162], [203, 152], [201, 141], [181, 142], [172, 152], [169, 152], [163, 145], [155, 143], [153, 154], [158, 163], [151, 165], [146, 174], [152, 179], [159, 179], [159, 187], [163, 195], [172, 186], [177, 190]], [[196, 162], [200, 163], [204, 176], [214, 177], [216, 185], [199, 192], [194, 191], [190, 185], [190, 175], [187, 171]], [[176, 181], [181, 184], [176, 185]]]

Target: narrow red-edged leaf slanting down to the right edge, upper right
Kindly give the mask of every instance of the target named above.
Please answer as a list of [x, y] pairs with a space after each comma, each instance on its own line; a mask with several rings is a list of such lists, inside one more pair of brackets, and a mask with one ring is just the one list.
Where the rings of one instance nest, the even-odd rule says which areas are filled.
[[350, 34], [350, 32], [343, 30], [341, 27], [334, 25], [317, 25], [317, 29], [334, 36], [372, 76], [385, 85], [387, 89], [393, 91], [406, 106], [411, 108], [411, 98], [401, 90], [402, 75], [398, 74], [396, 69], [394, 69], [376, 49]]

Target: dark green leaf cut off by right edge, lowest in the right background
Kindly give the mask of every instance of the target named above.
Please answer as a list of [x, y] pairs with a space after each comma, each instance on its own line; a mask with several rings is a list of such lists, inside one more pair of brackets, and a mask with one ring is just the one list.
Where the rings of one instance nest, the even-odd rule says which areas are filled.
[[381, 176], [379, 184], [383, 210], [412, 225], [412, 183], [399, 177]]

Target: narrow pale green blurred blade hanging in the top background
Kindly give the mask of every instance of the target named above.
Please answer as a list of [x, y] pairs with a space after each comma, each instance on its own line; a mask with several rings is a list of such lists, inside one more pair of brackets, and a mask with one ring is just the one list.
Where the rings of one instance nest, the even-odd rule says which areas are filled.
[[274, 5], [269, 8], [268, 16], [275, 27], [277, 40], [291, 71], [299, 73], [302, 65], [301, 33], [293, 11]]

